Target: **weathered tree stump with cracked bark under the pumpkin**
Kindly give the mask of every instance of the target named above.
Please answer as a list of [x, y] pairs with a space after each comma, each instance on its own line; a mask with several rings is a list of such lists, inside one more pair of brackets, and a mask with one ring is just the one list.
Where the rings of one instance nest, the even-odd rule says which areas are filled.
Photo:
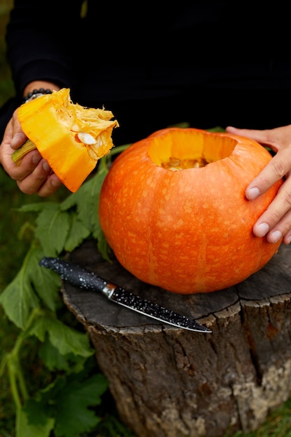
[[291, 395], [291, 246], [225, 290], [178, 295], [135, 279], [84, 242], [70, 261], [195, 318], [211, 334], [159, 323], [103, 295], [63, 284], [89, 332], [121, 420], [138, 437], [253, 431]]

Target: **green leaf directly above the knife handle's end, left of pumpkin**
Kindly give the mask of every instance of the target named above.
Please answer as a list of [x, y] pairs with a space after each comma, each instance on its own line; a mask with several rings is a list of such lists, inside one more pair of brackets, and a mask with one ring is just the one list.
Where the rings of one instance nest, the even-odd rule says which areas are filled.
[[70, 214], [61, 211], [59, 204], [40, 212], [36, 219], [35, 236], [40, 240], [45, 255], [57, 256], [64, 250], [70, 224]]

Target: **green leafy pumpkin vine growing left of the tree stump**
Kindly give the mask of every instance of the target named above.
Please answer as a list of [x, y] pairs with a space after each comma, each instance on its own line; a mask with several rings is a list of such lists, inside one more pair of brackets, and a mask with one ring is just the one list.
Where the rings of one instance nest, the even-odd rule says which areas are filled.
[[[116, 147], [110, 158], [125, 147]], [[0, 366], [0, 376], [8, 375], [15, 403], [16, 437], [48, 437], [52, 431], [55, 437], [77, 437], [96, 429], [101, 421], [94, 408], [101, 404], [107, 381], [92, 364], [94, 349], [88, 334], [60, 316], [64, 302], [59, 276], [38, 262], [43, 256], [73, 251], [87, 238], [96, 239], [98, 250], [107, 258], [97, 211], [110, 158], [100, 160], [98, 171], [64, 200], [17, 208], [17, 212], [34, 214], [35, 219], [22, 226], [20, 235], [30, 232], [31, 244], [22, 267], [0, 295], [6, 316], [19, 329], [13, 349], [2, 355]], [[29, 348], [37, 351], [34, 359], [40, 373], [46, 373], [39, 377], [43, 386], [27, 387], [22, 358]]]

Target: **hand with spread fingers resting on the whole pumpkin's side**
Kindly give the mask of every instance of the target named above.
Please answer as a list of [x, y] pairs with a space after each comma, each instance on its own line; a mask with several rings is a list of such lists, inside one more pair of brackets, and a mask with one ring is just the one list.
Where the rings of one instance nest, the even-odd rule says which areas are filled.
[[243, 135], [276, 151], [276, 155], [246, 188], [246, 198], [253, 200], [284, 177], [285, 181], [267, 210], [253, 226], [257, 237], [267, 236], [270, 243], [283, 237], [283, 243], [291, 242], [291, 124], [263, 131], [239, 129], [227, 126], [228, 133]]

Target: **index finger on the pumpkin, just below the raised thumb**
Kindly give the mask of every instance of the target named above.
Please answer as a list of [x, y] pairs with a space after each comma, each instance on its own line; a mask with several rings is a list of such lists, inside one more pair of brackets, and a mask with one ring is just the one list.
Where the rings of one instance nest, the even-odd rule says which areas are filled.
[[253, 200], [265, 193], [270, 186], [287, 175], [291, 168], [291, 154], [288, 149], [281, 149], [271, 158], [260, 174], [246, 188], [246, 198]]

